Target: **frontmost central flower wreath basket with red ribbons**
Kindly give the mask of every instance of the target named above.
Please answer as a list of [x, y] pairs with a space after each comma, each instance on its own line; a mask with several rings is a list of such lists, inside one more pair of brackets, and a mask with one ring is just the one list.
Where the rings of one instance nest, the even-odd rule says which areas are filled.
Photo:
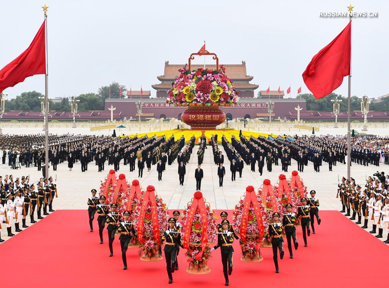
[[181, 239], [186, 249], [191, 274], [211, 272], [207, 266], [211, 257], [210, 245], [216, 240], [216, 218], [203, 194], [196, 191], [194, 198], [182, 213]]

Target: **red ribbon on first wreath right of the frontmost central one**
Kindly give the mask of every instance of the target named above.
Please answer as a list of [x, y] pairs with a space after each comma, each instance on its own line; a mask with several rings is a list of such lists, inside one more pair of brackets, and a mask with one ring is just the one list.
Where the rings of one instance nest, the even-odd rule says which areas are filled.
[[243, 242], [247, 242], [247, 220], [248, 220], [248, 209], [250, 208], [250, 204], [254, 208], [255, 216], [257, 217], [258, 229], [261, 235], [259, 245], [261, 245], [262, 238], [264, 237], [264, 222], [262, 220], [261, 208], [258, 203], [257, 195], [255, 194], [253, 186], [246, 187], [246, 196], [243, 202], [243, 211], [242, 211], [242, 220], [240, 224], [240, 237]]

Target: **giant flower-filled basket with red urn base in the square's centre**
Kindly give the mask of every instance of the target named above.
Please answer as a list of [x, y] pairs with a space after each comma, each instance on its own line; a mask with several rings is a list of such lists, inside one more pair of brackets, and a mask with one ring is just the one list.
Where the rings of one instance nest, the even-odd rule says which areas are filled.
[[[216, 54], [213, 55], [216, 57]], [[189, 68], [185, 66], [178, 70], [179, 76], [168, 91], [166, 103], [188, 106], [181, 119], [190, 125], [191, 129], [214, 130], [226, 119], [219, 107], [236, 104], [239, 101], [239, 92], [232, 80], [225, 75], [226, 69], [222, 65], [219, 67], [217, 64], [215, 70], [191, 70], [190, 67], [189, 63]]]

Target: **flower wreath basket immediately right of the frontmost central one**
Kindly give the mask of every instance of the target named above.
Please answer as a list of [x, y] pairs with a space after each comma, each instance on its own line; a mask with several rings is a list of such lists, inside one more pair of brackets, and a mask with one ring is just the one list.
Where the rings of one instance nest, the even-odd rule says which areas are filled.
[[245, 198], [235, 206], [232, 216], [235, 233], [241, 238], [241, 260], [244, 262], [260, 262], [264, 259], [260, 252], [265, 232], [263, 216], [265, 208], [260, 205], [254, 187], [247, 186]]

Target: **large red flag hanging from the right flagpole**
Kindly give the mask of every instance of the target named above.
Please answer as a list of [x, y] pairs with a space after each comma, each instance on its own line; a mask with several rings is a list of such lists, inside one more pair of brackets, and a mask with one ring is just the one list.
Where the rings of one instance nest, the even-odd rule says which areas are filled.
[[351, 21], [336, 38], [313, 56], [302, 78], [316, 99], [331, 94], [350, 75]]

